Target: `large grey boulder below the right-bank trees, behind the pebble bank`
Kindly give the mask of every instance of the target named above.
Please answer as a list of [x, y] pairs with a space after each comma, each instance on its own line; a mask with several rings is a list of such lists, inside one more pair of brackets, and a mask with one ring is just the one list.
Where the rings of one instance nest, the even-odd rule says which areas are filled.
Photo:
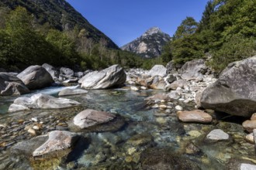
[[185, 63], [180, 72], [183, 80], [195, 80], [202, 77], [207, 70], [208, 68], [203, 59], [195, 59]]

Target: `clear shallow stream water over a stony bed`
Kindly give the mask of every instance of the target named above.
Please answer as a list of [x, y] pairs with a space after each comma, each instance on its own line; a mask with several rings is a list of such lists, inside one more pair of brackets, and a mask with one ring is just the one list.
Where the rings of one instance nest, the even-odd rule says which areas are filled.
[[[40, 90], [40, 92], [56, 96], [57, 92], [63, 88], [65, 87], [47, 88]], [[196, 168], [193, 169], [228, 169], [228, 162], [238, 159], [256, 162], [254, 145], [244, 141], [246, 134], [240, 124], [223, 121], [219, 121], [216, 125], [183, 124], [177, 120], [175, 109], [171, 110], [171, 113], [165, 114], [164, 110], [150, 109], [145, 106], [144, 98], [155, 93], [161, 93], [161, 91], [90, 90], [85, 95], [67, 97], [81, 102], [81, 107], [64, 110], [31, 110], [15, 114], [6, 113], [15, 97], [1, 97], [0, 124], [12, 126], [13, 124], [16, 125], [14, 122], [19, 120], [28, 121], [32, 117], [36, 117], [48, 124], [48, 127], [43, 128], [43, 134], [57, 129], [59, 122], [69, 122], [74, 115], [86, 108], [104, 110], [119, 115], [125, 124], [121, 128], [110, 128], [108, 131], [104, 131], [107, 128], [103, 128], [100, 132], [81, 132], [85, 137], [85, 142], [78, 145], [80, 147], [77, 149], [78, 151], [73, 151], [67, 156], [68, 158], [62, 159], [61, 162], [51, 163], [51, 165], [44, 165], [43, 161], [37, 162], [37, 164], [20, 162], [19, 158], [12, 158], [9, 147], [2, 148], [0, 150], [0, 169], [24, 169], [25, 167], [32, 169], [46, 167], [48, 169], [147, 169], [150, 165], [148, 160], [152, 157], [158, 162], [157, 168], [150, 165], [153, 167], [152, 169], [159, 169], [159, 167], [168, 169], [164, 165], [168, 165], [168, 162], [172, 161], [177, 164], [173, 167], [182, 169], [185, 167], [185, 162], [178, 162], [177, 160], [183, 159], [189, 164], [195, 165]], [[30, 95], [32, 94], [26, 96]], [[194, 104], [182, 104], [178, 101], [173, 103], [180, 104], [187, 110], [192, 110], [194, 107]], [[105, 126], [114, 126], [114, 124]], [[206, 134], [215, 128], [221, 128], [230, 134], [230, 141], [217, 143], [204, 141]], [[3, 130], [0, 128], [1, 131]], [[0, 138], [0, 144], [3, 141], [9, 144], [32, 138], [23, 129], [12, 131], [11, 136], [11, 139], [9, 137], [7, 137], [8, 139]], [[195, 145], [199, 151], [195, 153], [187, 151], [189, 144]], [[173, 155], [175, 155], [174, 158], [172, 158]], [[163, 160], [168, 160], [168, 162]]]

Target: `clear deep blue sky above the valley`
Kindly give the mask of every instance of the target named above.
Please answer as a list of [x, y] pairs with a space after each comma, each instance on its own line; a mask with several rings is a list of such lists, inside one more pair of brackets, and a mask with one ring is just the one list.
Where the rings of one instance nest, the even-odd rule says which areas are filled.
[[67, 0], [93, 26], [123, 46], [157, 26], [172, 36], [186, 16], [199, 21], [208, 0]]

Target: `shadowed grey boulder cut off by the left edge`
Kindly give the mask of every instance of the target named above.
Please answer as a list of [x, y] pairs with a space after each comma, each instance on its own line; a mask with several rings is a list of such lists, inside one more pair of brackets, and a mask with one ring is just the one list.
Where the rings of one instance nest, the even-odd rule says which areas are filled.
[[11, 73], [0, 73], [0, 95], [21, 95], [29, 93], [29, 89], [18, 77]]

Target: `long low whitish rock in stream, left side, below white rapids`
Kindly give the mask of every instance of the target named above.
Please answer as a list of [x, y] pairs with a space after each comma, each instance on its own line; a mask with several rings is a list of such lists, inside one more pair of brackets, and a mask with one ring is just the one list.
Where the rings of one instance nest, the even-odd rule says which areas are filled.
[[29, 109], [61, 109], [80, 105], [71, 99], [56, 98], [50, 95], [36, 93], [32, 97], [19, 97], [9, 107], [9, 112]]

